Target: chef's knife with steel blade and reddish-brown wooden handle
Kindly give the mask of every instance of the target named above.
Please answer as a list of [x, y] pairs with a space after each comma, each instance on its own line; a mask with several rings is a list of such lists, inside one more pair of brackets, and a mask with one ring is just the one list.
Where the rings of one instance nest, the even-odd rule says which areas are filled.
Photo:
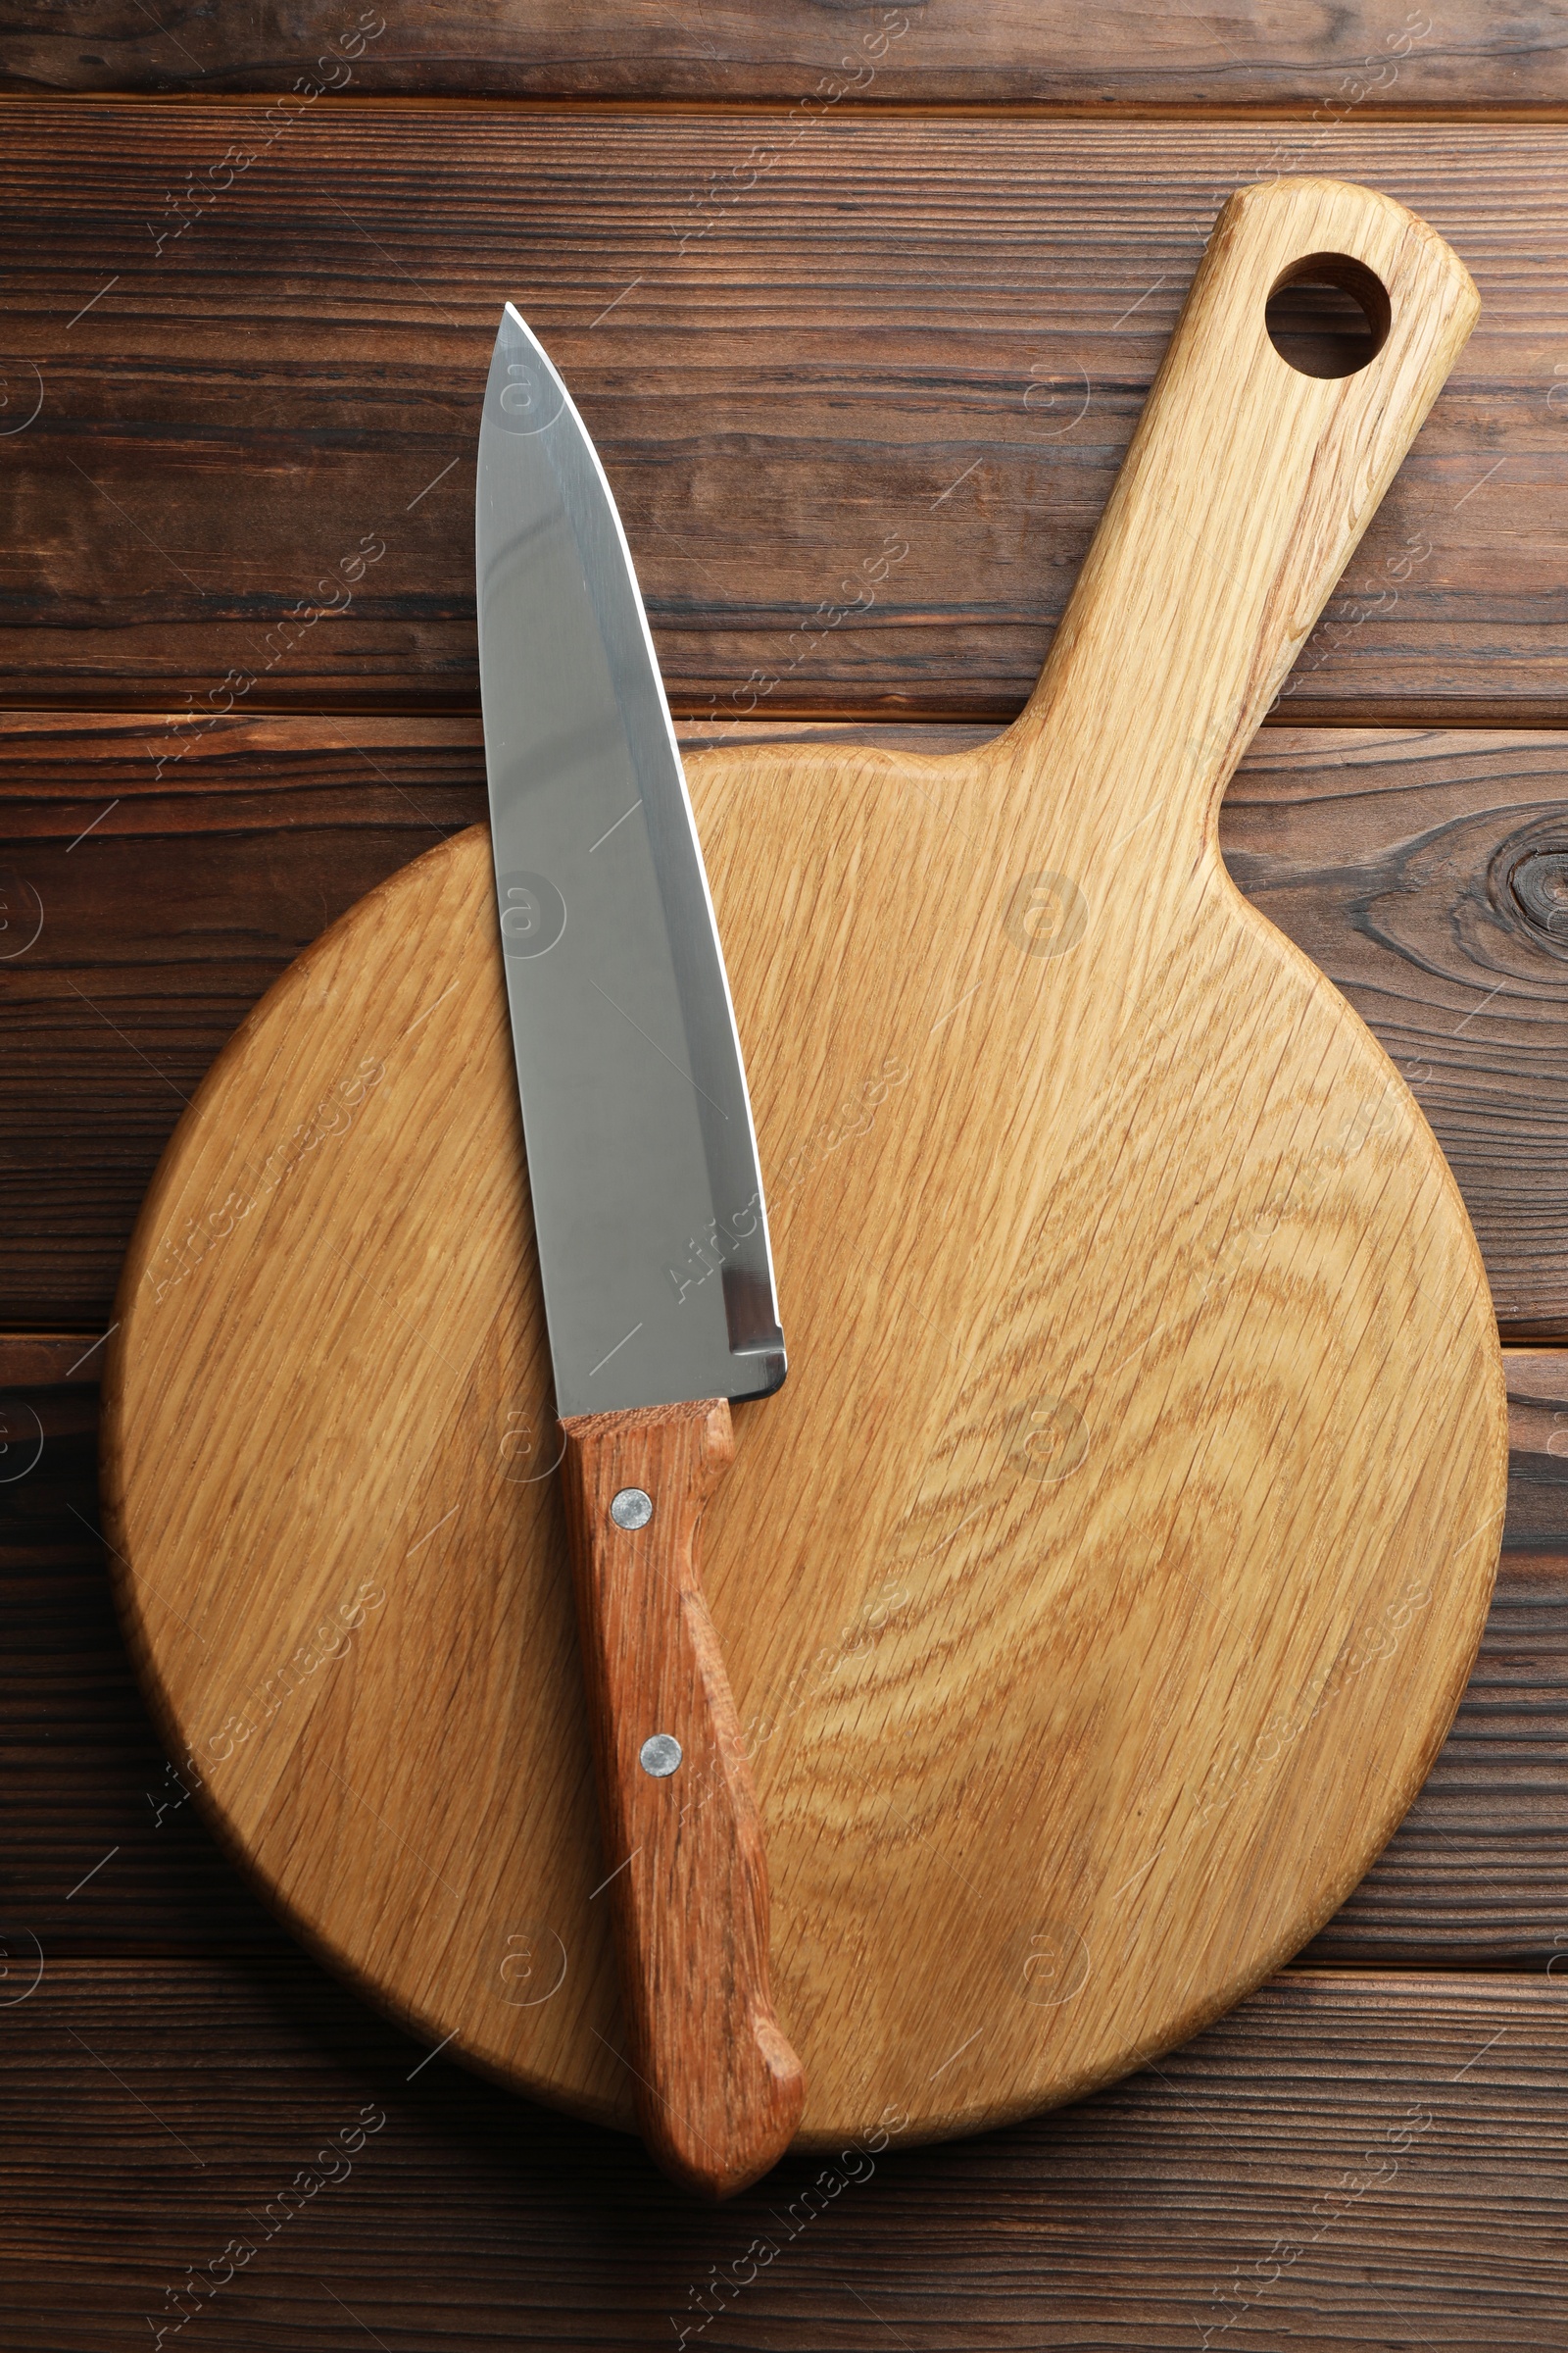
[[701, 1586], [729, 1405], [785, 1377], [757, 1136], [621, 515], [512, 308], [484, 388], [480, 692], [505, 993], [637, 2120], [724, 2198], [804, 2099]]

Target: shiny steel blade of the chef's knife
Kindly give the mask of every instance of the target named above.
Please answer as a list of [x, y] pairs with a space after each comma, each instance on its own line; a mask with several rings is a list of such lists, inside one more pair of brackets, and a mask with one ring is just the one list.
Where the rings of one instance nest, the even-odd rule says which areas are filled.
[[766, 1395], [783, 1332], [686, 779], [604, 468], [510, 304], [480, 428], [477, 569], [557, 1412]]

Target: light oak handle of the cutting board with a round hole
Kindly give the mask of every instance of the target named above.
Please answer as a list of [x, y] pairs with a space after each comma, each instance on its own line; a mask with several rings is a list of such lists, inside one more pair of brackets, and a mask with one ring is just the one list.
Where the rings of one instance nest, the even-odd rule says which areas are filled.
[[[1354, 374], [1302, 374], [1269, 339], [1269, 296], [1319, 280], [1373, 327]], [[1229, 198], [1039, 685], [994, 746], [1086, 845], [1152, 826], [1145, 873], [1215, 847], [1225, 781], [1476, 313], [1458, 254], [1387, 195], [1279, 179]], [[1359, 619], [1394, 609], [1415, 560], [1380, 572]]]

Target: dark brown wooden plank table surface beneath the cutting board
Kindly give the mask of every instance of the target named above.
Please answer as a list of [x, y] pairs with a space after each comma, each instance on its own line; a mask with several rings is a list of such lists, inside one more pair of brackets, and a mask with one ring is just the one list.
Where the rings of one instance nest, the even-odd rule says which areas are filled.
[[[0, 2346], [1561, 2348], [1568, 16], [315, 14], [0, 5]], [[94, 1344], [221, 1042], [482, 814], [503, 299], [604, 454], [689, 741], [973, 741], [1220, 200], [1276, 169], [1410, 202], [1483, 301], [1222, 838], [1476, 1221], [1486, 1642], [1380, 1864], [1220, 2026], [703, 2212], [376, 2019], [216, 1854], [108, 1602]]]

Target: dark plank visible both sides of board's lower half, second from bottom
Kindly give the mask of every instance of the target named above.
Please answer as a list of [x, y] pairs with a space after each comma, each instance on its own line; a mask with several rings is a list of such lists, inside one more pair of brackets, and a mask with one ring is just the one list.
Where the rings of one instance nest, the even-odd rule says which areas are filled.
[[[0, 1372], [14, 1346], [0, 1344]], [[1505, 1362], [1514, 1391], [1568, 1407], [1568, 1353]], [[188, 1802], [190, 1774], [162, 1753], [132, 1678], [99, 1544], [94, 1393], [9, 1374], [5, 1391], [14, 1454], [0, 1468], [21, 1473], [0, 1485], [7, 1920], [52, 1955], [284, 1948]], [[1542, 1969], [1568, 1951], [1568, 1492], [1547, 1544], [1533, 1473], [1561, 1457], [1530, 1452], [1528, 1412], [1516, 1402], [1497, 1595], [1455, 1727], [1314, 1960]]]

